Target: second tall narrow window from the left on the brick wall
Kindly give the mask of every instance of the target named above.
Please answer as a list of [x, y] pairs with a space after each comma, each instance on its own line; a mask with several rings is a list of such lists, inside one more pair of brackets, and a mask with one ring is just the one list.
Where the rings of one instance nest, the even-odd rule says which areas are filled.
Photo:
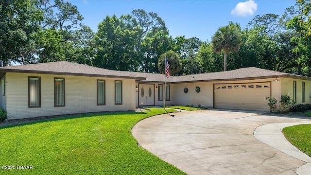
[[54, 78], [54, 106], [65, 106], [65, 78]]

